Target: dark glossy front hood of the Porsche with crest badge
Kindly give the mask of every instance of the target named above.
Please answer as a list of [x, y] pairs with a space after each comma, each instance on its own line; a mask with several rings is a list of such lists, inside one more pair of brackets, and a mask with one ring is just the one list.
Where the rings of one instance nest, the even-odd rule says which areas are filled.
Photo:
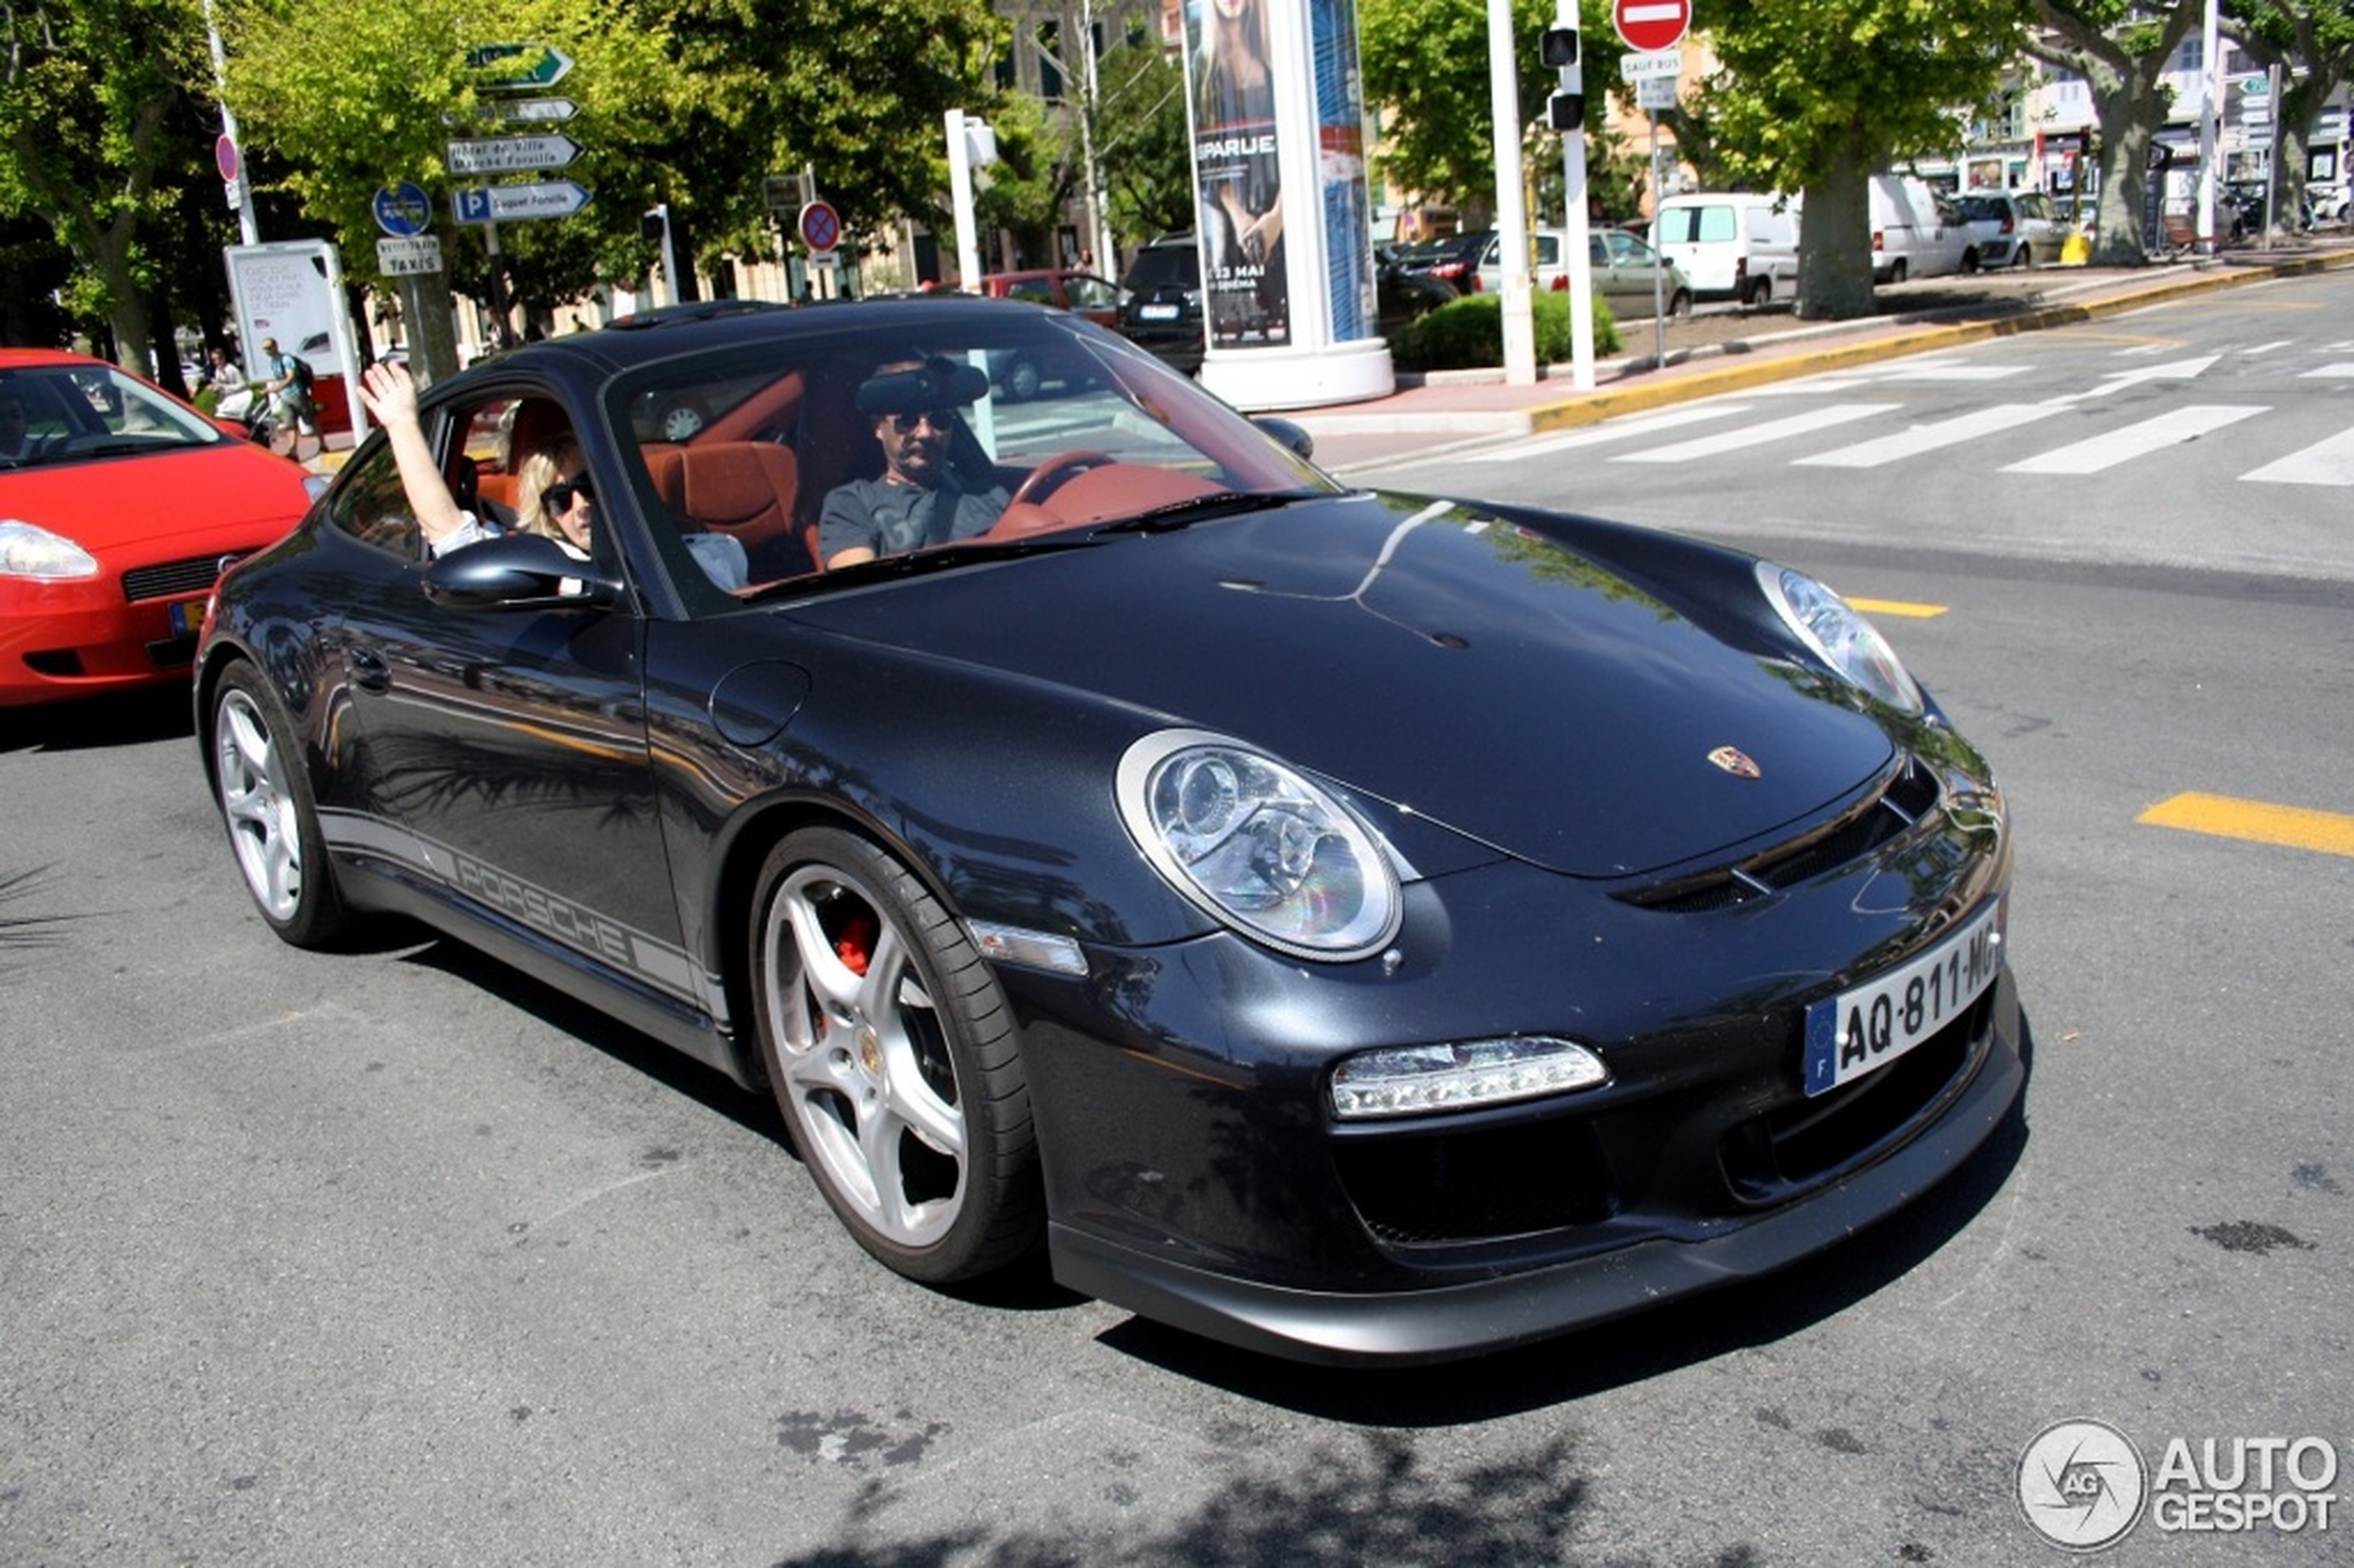
[[1893, 753], [1836, 683], [1448, 501], [1302, 501], [791, 614], [1217, 730], [1575, 876], [1773, 833]]

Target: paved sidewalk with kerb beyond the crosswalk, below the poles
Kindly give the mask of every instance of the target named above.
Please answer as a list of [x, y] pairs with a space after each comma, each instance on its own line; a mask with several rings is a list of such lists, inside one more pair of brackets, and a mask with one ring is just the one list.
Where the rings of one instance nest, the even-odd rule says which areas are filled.
[[[1857, 320], [1798, 323], [1789, 313], [1773, 311], [1697, 315], [1690, 327], [1669, 330], [1664, 367], [1650, 353], [1657, 339], [1653, 323], [1624, 323], [1622, 337], [1641, 353], [1598, 363], [1591, 391], [1570, 384], [1568, 365], [1544, 367], [1540, 379], [1525, 386], [1509, 386], [1502, 370], [1455, 370], [1401, 377], [1398, 391], [1387, 398], [1297, 410], [1285, 417], [1316, 438], [1321, 466], [1377, 469], [1462, 443], [1598, 424], [1822, 370], [1989, 337], [2046, 332], [2166, 299], [2335, 268], [2354, 268], [2354, 235], [2342, 231], [2283, 242], [2269, 252], [2232, 250], [2222, 257], [2159, 266], [2053, 266], [2032, 273], [1973, 273], [1883, 285], [1876, 294], [1883, 313]], [[1674, 339], [1695, 327], [1714, 341], [1678, 348]]]

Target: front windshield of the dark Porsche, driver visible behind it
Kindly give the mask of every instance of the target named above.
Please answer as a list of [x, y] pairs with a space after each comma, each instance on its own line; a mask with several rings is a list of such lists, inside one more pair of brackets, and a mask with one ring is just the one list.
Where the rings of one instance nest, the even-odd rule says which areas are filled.
[[[1083, 318], [942, 308], [937, 330], [911, 332], [843, 320], [758, 344], [711, 339], [614, 379], [614, 443], [690, 612], [1337, 490]], [[711, 551], [699, 534], [744, 546], [732, 591], [697, 570]]]

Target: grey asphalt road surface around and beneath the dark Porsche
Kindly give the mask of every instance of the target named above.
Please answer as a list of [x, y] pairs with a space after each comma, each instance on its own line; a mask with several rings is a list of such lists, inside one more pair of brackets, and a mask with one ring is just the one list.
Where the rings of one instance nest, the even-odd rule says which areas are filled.
[[[2298, 337], [2354, 337], [2333, 320]], [[2135, 386], [2109, 398], [2185, 391]], [[2243, 391], [2354, 421], [2326, 379]], [[2053, 1422], [2152, 1464], [2347, 1455], [2349, 859], [2142, 817], [2354, 812], [2354, 572], [2020, 537], [2305, 516], [2253, 509], [2215, 445], [2062, 506], [1966, 452], [1591, 466], [1612, 506], [1747, 483], [1716, 527], [1890, 605], [2010, 791], [2034, 1078], [1956, 1182], [1817, 1264], [1424, 1373], [1231, 1354], [1038, 1278], [909, 1285], [765, 1099], [450, 942], [271, 939], [179, 704], [9, 713], [0, 1559], [2057, 1563], [2017, 1502]], [[2109, 1561], [2338, 1563], [2349, 1535], [2144, 1519]]]

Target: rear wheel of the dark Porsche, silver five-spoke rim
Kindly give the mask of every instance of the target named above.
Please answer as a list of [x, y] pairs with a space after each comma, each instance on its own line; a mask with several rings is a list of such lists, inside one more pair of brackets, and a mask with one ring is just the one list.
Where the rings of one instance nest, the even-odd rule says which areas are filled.
[[212, 798], [254, 909], [292, 946], [332, 944], [351, 913], [327, 862], [294, 720], [245, 662], [221, 673], [210, 713]]

